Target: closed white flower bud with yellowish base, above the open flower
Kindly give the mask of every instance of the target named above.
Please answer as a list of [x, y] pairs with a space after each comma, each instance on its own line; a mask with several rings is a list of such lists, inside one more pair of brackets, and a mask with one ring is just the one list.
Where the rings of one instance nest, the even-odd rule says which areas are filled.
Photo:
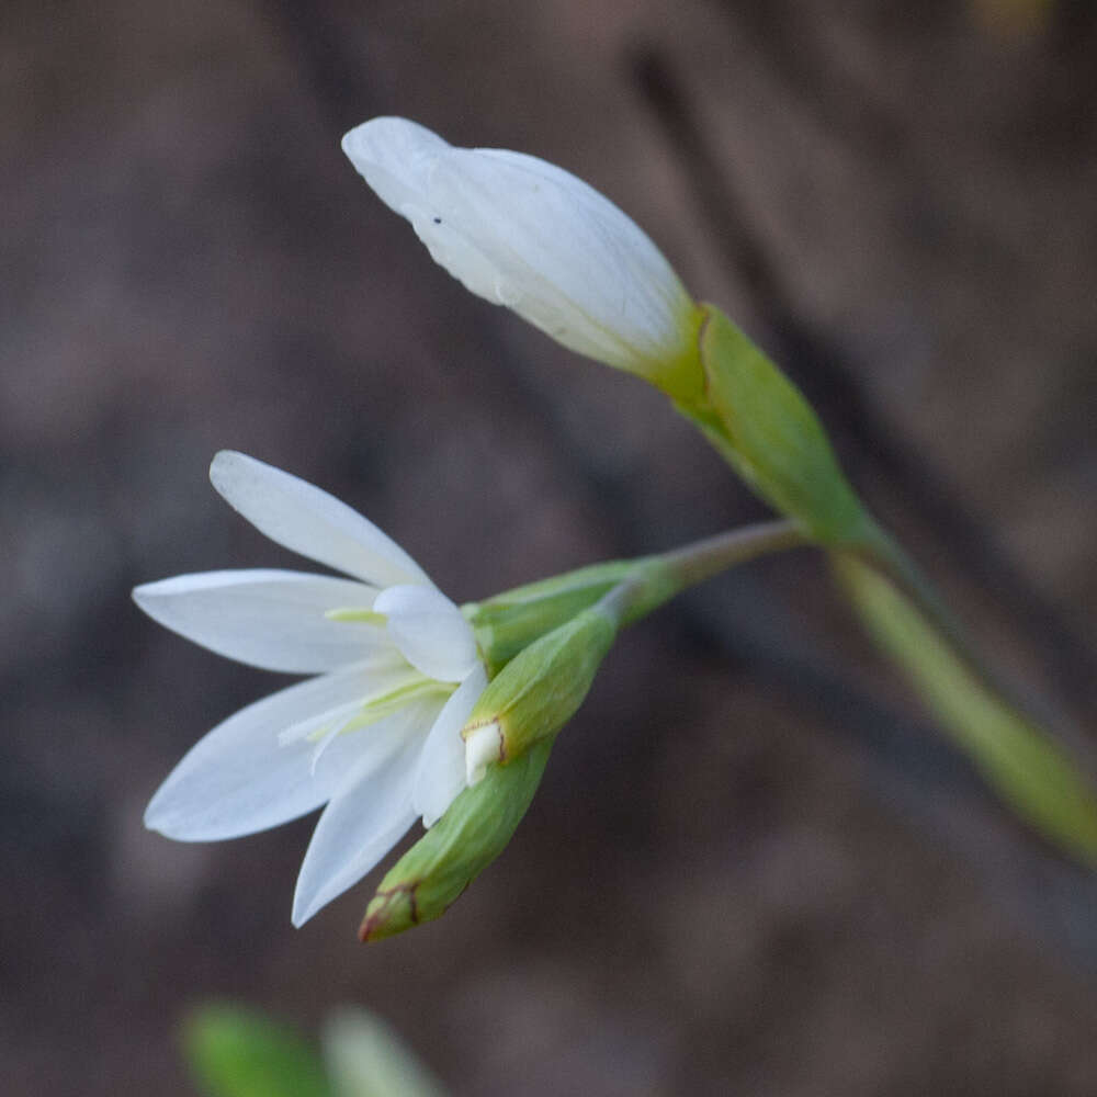
[[454, 148], [406, 118], [343, 151], [436, 262], [581, 354], [658, 374], [695, 354], [697, 306], [648, 237], [583, 180], [533, 156]]

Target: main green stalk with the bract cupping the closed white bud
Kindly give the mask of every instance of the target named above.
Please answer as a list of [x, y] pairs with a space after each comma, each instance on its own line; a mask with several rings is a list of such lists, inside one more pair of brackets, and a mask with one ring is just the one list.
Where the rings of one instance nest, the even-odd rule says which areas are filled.
[[678, 409], [756, 494], [830, 551], [870, 635], [1003, 801], [1060, 848], [1097, 864], [1097, 798], [1087, 778], [863, 506], [800, 391], [719, 309], [702, 308], [706, 386], [676, 402]]

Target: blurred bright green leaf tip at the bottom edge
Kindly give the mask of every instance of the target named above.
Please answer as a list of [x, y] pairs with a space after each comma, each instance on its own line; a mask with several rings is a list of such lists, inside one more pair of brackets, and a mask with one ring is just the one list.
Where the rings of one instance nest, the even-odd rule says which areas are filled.
[[182, 1034], [191, 1071], [210, 1097], [331, 1097], [319, 1055], [261, 1014], [205, 1006]]

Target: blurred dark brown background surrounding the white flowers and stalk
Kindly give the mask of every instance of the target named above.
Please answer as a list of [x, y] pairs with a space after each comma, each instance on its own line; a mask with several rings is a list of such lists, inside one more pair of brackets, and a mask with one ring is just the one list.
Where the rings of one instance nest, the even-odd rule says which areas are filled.
[[[0, 1077], [191, 1093], [211, 996], [357, 1002], [462, 1095], [1097, 1093], [1097, 887], [980, 787], [799, 554], [624, 637], [504, 858], [362, 948], [310, 822], [147, 834], [282, 679], [139, 581], [295, 565], [224, 446], [459, 600], [764, 513], [631, 378], [471, 297], [339, 136], [398, 113], [591, 181], [787, 363], [994, 657], [1097, 728], [1087, 2], [8, 0]], [[375, 882], [376, 877], [371, 878]]]

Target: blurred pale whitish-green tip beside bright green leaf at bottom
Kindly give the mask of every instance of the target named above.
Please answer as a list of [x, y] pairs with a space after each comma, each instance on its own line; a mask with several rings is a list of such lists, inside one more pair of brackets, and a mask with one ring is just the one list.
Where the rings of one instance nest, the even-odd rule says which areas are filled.
[[335, 1097], [444, 1097], [445, 1090], [389, 1026], [344, 1007], [324, 1026]]

